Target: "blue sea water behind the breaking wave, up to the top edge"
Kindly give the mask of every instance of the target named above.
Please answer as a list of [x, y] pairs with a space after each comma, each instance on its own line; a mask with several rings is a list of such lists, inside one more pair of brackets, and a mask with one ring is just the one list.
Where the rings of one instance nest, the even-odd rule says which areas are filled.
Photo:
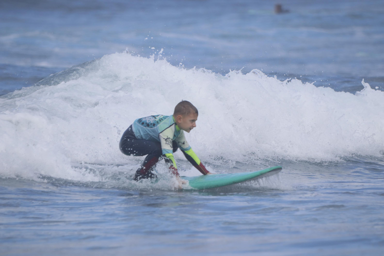
[[288, 13], [250, 0], [1, 1], [1, 86], [29, 86], [125, 49], [147, 57], [162, 48], [186, 68], [257, 68], [338, 90], [361, 89], [364, 78], [382, 89], [381, 1], [281, 3]]

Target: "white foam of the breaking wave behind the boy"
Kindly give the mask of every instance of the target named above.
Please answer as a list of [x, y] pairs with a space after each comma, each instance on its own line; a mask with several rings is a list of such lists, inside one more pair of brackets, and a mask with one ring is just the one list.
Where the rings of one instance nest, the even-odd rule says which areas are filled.
[[135, 118], [171, 114], [181, 99], [199, 110], [186, 136], [204, 162], [335, 160], [384, 148], [384, 92], [365, 82], [353, 95], [259, 70], [222, 76], [127, 53], [76, 70], [0, 99], [1, 176], [99, 180], [72, 166], [137, 164], [118, 149], [122, 132]]

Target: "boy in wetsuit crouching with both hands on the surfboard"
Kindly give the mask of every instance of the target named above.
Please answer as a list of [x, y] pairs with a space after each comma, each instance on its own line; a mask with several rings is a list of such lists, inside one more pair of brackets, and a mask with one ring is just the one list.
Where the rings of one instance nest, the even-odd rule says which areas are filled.
[[185, 183], [177, 172], [173, 153], [180, 148], [186, 159], [202, 174], [211, 174], [198, 159], [188, 142], [184, 132], [196, 127], [198, 111], [189, 101], [182, 100], [175, 107], [173, 115], [151, 115], [134, 120], [124, 131], [120, 139], [120, 150], [126, 155], [147, 155], [140, 168], [134, 174], [134, 180], [154, 178], [152, 172], [162, 156], [169, 165], [169, 170], [181, 184]]

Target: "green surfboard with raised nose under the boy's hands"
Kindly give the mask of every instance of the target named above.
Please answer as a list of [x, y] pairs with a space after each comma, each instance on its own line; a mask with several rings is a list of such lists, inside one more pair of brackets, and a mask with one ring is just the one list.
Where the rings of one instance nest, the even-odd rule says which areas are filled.
[[208, 174], [193, 177], [181, 176], [181, 178], [188, 180], [189, 186], [194, 189], [207, 189], [270, 176], [278, 173], [281, 169], [281, 166], [274, 166], [250, 172]]

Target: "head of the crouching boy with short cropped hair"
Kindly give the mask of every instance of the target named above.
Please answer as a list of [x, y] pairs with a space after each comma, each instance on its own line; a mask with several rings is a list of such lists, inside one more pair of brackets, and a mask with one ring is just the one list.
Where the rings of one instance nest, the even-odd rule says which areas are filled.
[[189, 132], [196, 127], [197, 116], [197, 108], [189, 101], [181, 100], [174, 107], [174, 120], [176, 121], [177, 126], [186, 132]]

